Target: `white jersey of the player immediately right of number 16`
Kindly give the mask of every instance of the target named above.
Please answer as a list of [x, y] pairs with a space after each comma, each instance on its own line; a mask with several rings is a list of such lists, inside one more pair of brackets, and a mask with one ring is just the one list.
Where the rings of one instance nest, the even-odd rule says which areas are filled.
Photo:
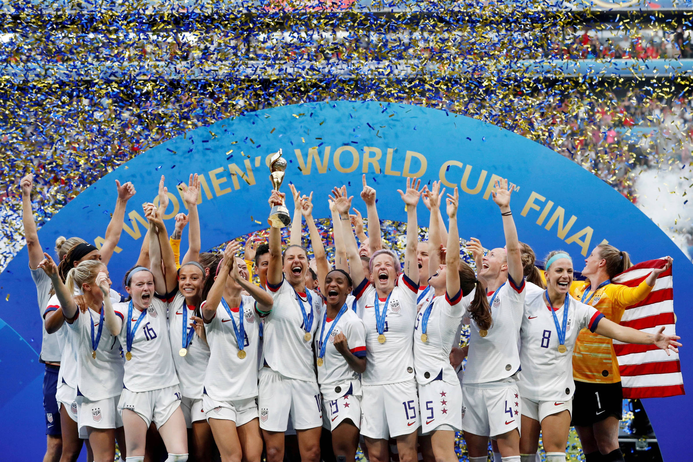
[[[190, 337], [192, 334], [192, 339], [187, 346], [188, 353], [185, 356], [179, 354], [180, 349], [183, 348], [183, 310], [188, 312], [186, 336]], [[204, 371], [207, 369], [207, 361], [209, 361], [209, 346], [198, 337], [195, 329], [190, 327], [192, 322], [190, 317], [194, 314], [195, 306], [187, 306], [181, 292], [177, 292], [173, 301], [168, 303], [168, 337], [180, 391], [186, 398], [202, 399], [202, 381]]]

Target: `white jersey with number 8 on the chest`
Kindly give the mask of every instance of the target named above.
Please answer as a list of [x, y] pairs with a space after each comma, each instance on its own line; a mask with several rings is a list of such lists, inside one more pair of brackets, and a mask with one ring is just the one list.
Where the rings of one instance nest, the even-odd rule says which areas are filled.
[[[542, 292], [525, 299], [525, 312], [520, 329], [520, 362], [518, 388], [523, 398], [540, 401], [570, 400], [575, 390], [572, 380], [572, 348], [583, 328], [592, 332], [604, 314], [568, 296], [568, 326], [565, 332], [565, 353], [560, 353], [556, 323]], [[561, 306], [555, 310], [559, 326], [563, 326]]]

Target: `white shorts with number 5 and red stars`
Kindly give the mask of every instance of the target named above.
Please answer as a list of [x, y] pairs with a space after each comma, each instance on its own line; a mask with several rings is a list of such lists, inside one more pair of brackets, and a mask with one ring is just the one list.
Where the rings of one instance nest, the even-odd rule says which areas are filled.
[[462, 389], [457, 384], [432, 380], [419, 385], [419, 409], [421, 435], [434, 430], [462, 430]]

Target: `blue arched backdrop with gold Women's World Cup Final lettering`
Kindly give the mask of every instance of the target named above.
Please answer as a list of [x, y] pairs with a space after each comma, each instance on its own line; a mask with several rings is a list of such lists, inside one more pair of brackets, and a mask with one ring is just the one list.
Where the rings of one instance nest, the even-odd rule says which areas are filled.
[[[268, 157], [281, 148], [288, 160], [283, 192], [291, 181], [304, 193], [314, 192], [313, 216], [329, 217], [327, 195], [347, 185], [359, 208], [361, 175], [378, 191], [383, 219], [406, 220], [396, 192], [405, 177], [424, 184], [441, 180], [460, 188], [459, 232], [480, 238], [485, 247], [503, 245], [498, 207], [491, 199], [495, 179], [507, 178], [514, 188], [511, 207], [520, 240], [539, 259], [549, 251], [570, 253], [575, 269], [595, 245], [608, 241], [629, 251], [635, 262], [674, 256], [674, 309], [677, 333], [692, 337], [693, 265], [620, 193], [569, 159], [507, 130], [456, 114], [423, 107], [378, 102], [333, 102], [291, 105], [245, 114], [201, 127], [144, 152], [87, 188], [62, 208], [39, 232], [46, 251], [58, 236], [79, 236], [97, 247], [116, 201], [114, 181], [132, 181], [123, 235], [109, 272], [114, 289], [137, 261], [147, 222], [141, 204], [157, 197], [166, 175], [170, 203], [165, 218], [186, 211], [176, 185], [190, 173], [200, 174], [202, 249], [267, 227], [272, 188]], [[448, 189], [449, 191], [449, 189]], [[428, 226], [428, 211], [419, 207], [419, 223]], [[186, 233], [184, 233], [186, 234]], [[184, 237], [185, 240], [185, 237]], [[182, 248], [186, 248], [183, 242]], [[42, 458], [44, 414], [43, 366], [39, 363], [42, 323], [36, 289], [23, 249], [0, 275], [0, 408], [3, 434], [0, 454], [13, 461]], [[691, 353], [681, 350], [684, 380]], [[644, 400], [665, 461], [686, 454], [685, 432], [693, 426], [693, 400], [687, 396]], [[686, 411], [689, 409], [689, 411]]]

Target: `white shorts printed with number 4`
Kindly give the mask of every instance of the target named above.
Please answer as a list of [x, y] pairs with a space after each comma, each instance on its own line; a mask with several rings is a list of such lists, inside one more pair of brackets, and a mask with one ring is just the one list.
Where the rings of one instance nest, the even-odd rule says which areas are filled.
[[522, 401], [515, 382], [507, 387], [462, 385], [462, 429], [479, 436], [520, 431]]

